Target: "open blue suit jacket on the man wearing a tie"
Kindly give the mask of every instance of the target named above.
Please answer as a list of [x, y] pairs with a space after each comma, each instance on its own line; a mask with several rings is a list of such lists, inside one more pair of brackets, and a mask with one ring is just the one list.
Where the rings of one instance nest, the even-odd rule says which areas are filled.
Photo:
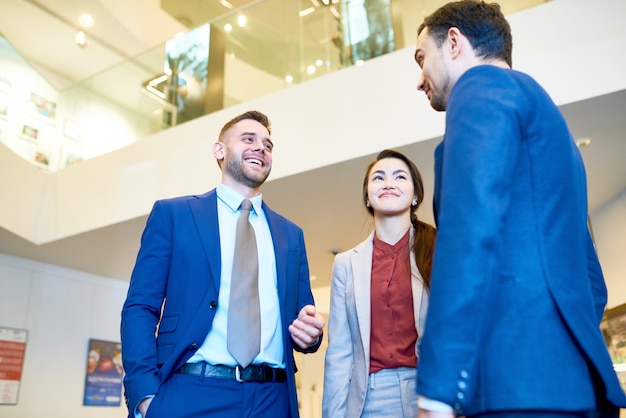
[[[293, 349], [303, 350], [292, 344], [287, 328], [303, 306], [313, 304], [304, 235], [265, 203], [263, 210], [276, 254], [290, 410], [297, 417]], [[215, 190], [154, 204], [122, 310], [124, 387], [131, 414], [145, 396], [159, 391], [211, 329], [220, 289], [218, 229]], [[307, 352], [318, 347], [319, 343]]]

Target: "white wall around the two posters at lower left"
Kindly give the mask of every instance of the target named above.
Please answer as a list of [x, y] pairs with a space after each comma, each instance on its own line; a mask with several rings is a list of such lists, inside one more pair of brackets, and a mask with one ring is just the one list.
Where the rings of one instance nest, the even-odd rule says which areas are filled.
[[126, 417], [123, 401], [82, 403], [89, 339], [119, 341], [128, 283], [0, 254], [0, 289], [0, 326], [28, 331], [18, 403], [0, 417]]

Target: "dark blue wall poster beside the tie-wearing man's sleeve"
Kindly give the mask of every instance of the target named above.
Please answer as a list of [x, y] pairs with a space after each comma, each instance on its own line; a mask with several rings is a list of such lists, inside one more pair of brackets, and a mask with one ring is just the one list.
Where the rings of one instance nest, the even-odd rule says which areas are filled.
[[120, 406], [123, 376], [122, 344], [90, 339], [83, 405]]

